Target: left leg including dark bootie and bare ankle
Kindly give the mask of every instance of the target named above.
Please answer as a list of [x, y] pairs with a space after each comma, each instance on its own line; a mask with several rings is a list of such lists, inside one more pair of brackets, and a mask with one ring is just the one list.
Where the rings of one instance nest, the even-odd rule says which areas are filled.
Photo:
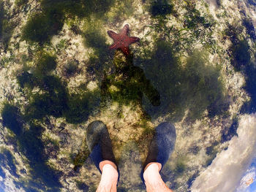
[[86, 142], [91, 150], [90, 157], [102, 174], [97, 192], [116, 192], [118, 167], [105, 124], [99, 120], [90, 123], [86, 129]]

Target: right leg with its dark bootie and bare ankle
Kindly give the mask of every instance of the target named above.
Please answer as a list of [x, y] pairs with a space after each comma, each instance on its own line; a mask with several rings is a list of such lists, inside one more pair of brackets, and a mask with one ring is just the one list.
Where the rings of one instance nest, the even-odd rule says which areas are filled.
[[172, 123], [161, 123], [155, 129], [156, 133], [148, 148], [148, 156], [140, 174], [148, 192], [167, 192], [160, 172], [173, 152], [176, 142], [176, 128]]

